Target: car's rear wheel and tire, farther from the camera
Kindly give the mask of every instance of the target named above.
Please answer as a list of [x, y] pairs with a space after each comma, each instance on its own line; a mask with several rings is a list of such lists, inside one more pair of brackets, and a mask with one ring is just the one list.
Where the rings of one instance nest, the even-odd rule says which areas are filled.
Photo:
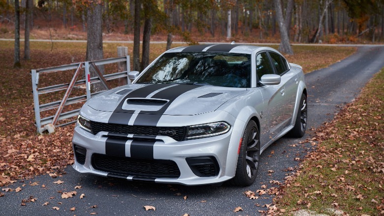
[[297, 111], [295, 126], [292, 128], [292, 130], [289, 131], [288, 136], [296, 138], [301, 138], [304, 136], [305, 130], [307, 128], [307, 108], [307, 96], [302, 94], [300, 100], [300, 108]]

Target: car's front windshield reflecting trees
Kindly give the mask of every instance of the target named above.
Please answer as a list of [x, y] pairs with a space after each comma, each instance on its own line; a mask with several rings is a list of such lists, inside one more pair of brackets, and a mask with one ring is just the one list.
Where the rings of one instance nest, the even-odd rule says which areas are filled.
[[249, 88], [251, 55], [165, 53], [135, 83], [183, 83]]

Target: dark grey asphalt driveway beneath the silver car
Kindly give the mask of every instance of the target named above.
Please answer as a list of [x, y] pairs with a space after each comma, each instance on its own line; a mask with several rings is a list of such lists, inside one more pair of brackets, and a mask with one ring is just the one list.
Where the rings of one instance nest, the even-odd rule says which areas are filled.
[[[359, 46], [358, 51], [347, 59], [329, 68], [306, 74], [308, 86], [308, 128], [302, 139], [282, 138], [269, 146], [261, 155], [259, 173], [256, 182], [249, 187], [235, 186], [183, 186], [154, 183], [133, 183], [125, 180], [108, 179], [77, 173], [72, 167], [65, 169], [66, 174], [52, 179], [48, 175], [38, 176], [32, 180], [15, 182], [3, 188], [21, 187], [20, 192], [4, 192], [0, 197], [0, 216], [35, 216], [35, 215], [105, 215], [127, 216], [239, 216], [260, 215], [257, 210], [266, 210], [265, 204], [272, 203], [273, 196], [262, 195], [250, 200], [244, 191], [256, 191], [265, 184], [267, 188], [278, 185], [270, 180], [284, 182], [284, 178], [294, 171], [298, 161], [312, 146], [299, 144], [311, 137], [310, 128], [319, 127], [323, 122], [333, 118], [341, 106], [351, 102], [365, 83], [384, 67], [384, 46]], [[273, 152], [273, 153], [272, 153]], [[268, 173], [273, 170], [273, 173]], [[54, 181], [64, 181], [62, 184]], [[31, 183], [37, 182], [37, 185]], [[23, 186], [23, 184], [25, 184]], [[45, 187], [42, 187], [42, 185]], [[75, 186], [81, 188], [75, 189]], [[61, 198], [60, 192], [76, 191], [72, 198]], [[80, 199], [80, 195], [85, 197]], [[181, 195], [178, 195], [181, 194]], [[21, 206], [23, 199], [31, 196], [36, 200]], [[184, 199], [186, 197], [186, 200]], [[48, 205], [43, 206], [44, 203]], [[143, 206], [154, 206], [156, 211], [145, 211]], [[97, 206], [97, 207], [96, 207]], [[240, 206], [244, 211], [234, 213]], [[60, 208], [59, 210], [52, 209]], [[70, 208], [75, 207], [75, 211]], [[96, 207], [96, 208], [93, 208]]]

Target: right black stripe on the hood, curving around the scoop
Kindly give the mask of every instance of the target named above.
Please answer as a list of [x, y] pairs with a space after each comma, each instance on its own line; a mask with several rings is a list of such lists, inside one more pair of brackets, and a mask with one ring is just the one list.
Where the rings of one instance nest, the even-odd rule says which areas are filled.
[[167, 89], [164, 89], [156, 93], [151, 98], [163, 99], [163, 100], [169, 100], [169, 101], [157, 111], [140, 111], [135, 121], [133, 122], [133, 125], [156, 126], [160, 120], [161, 114], [165, 112], [165, 110], [172, 104], [172, 102], [177, 97], [198, 87], [201, 87], [201, 86], [180, 84], [180, 85], [169, 87]]

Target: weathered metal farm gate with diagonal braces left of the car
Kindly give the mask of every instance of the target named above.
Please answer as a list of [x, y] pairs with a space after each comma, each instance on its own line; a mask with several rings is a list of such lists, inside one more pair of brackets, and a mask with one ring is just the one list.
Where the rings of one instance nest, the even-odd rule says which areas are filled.
[[[118, 72], [108, 73], [103, 75], [98, 68], [100, 67], [103, 68], [108, 64], [118, 64]], [[40, 75], [48, 74], [48, 73], [56, 73], [56, 72], [65, 72], [65, 71], [71, 71], [71, 70], [72, 71], [76, 70], [76, 71], [69, 83], [56, 84], [56, 85], [45, 86], [41, 88], [38, 87]], [[91, 77], [91, 73], [90, 73], [91, 70], [95, 72], [96, 76]], [[103, 60], [97, 60], [97, 61], [91, 61], [91, 62], [73, 63], [73, 64], [62, 65], [58, 67], [32, 70], [31, 71], [32, 92], [33, 92], [33, 104], [34, 104], [37, 131], [41, 133], [40, 130], [43, 129], [42, 127], [48, 124], [52, 124], [55, 127], [60, 127], [60, 126], [64, 126], [64, 125], [76, 122], [76, 120], [65, 121], [65, 119], [69, 119], [74, 116], [77, 116], [79, 114], [80, 108], [63, 112], [64, 106], [74, 105], [77, 103], [84, 103], [90, 100], [94, 95], [110, 89], [107, 83], [108, 80], [119, 79], [119, 84], [121, 84], [122, 79], [124, 79], [123, 83], [130, 83], [130, 80], [128, 78], [129, 71], [130, 71], [129, 56], [103, 59]], [[83, 79], [78, 80], [79, 75], [83, 75], [81, 76]], [[127, 79], [126, 82], [125, 82], [125, 79]], [[99, 90], [91, 93], [91, 84], [95, 84], [99, 82], [102, 83], [104, 90]], [[70, 98], [69, 95], [73, 88], [82, 88], [82, 89], [85, 88], [85, 94], [80, 96], [77, 95], [75, 97]], [[40, 95], [64, 91], [64, 90], [65, 90], [65, 94], [62, 100], [52, 101], [45, 104], [39, 103]], [[54, 115], [49, 115], [47, 117], [41, 118], [42, 112], [46, 112], [49, 110], [51, 110], [52, 112], [52, 109], [57, 109]], [[61, 120], [64, 120], [64, 123], [57, 125], [57, 122]]]

